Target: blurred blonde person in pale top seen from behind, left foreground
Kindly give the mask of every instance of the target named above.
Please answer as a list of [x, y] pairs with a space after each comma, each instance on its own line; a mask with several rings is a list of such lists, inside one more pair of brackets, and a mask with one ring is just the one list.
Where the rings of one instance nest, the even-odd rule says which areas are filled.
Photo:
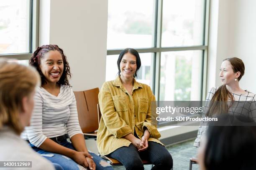
[[5, 161], [1, 170], [54, 170], [50, 161], [20, 138], [20, 133], [30, 124], [35, 87], [39, 84], [40, 77], [32, 67], [0, 59], [0, 161]]

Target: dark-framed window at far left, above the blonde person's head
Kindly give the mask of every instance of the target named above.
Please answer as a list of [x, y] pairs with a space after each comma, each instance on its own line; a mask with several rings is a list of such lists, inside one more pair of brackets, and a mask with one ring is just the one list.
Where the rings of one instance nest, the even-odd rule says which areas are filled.
[[38, 2], [0, 0], [0, 57], [31, 57], [38, 45]]

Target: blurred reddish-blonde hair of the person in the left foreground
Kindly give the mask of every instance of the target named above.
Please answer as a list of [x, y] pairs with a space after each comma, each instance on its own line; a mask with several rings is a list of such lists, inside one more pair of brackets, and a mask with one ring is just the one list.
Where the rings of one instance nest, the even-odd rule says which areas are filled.
[[17, 134], [23, 131], [19, 118], [22, 99], [39, 84], [40, 76], [33, 67], [0, 60], [0, 130], [7, 125]]

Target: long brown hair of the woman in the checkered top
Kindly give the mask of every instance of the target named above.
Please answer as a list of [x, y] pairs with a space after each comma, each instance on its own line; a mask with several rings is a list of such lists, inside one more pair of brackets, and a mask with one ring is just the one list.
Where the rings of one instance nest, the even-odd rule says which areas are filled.
[[[233, 68], [234, 72], [240, 72], [240, 76], [238, 77], [238, 81], [241, 80], [244, 75], [244, 64], [243, 61], [237, 57], [226, 58]], [[223, 60], [223, 61], [225, 61]], [[212, 96], [212, 100], [210, 102], [209, 110], [206, 113], [206, 116], [220, 115], [222, 113], [227, 113], [230, 106], [228, 106], [228, 99], [231, 100], [231, 104], [233, 102], [233, 95], [228, 91], [226, 85], [221, 85], [218, 90], [216, 90], [215, 94]]]

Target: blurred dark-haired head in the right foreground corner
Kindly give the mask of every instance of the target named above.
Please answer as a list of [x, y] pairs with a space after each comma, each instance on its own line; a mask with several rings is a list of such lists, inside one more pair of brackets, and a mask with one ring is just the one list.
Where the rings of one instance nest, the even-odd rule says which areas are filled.
[[200, 170], [256, 170], [256, 123], [242, 115], [218, 117], [207, 128], [198, 160]]

